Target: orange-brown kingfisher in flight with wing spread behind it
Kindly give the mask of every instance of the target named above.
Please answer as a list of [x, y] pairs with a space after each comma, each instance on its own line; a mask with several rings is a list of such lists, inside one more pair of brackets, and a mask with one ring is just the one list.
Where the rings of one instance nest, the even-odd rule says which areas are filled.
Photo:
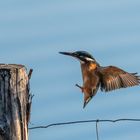
[[79, 60], [81, 65], [83, 86], [76, 84], [84, 94], [83, 108], [96, 95], [100, 88], [103, 92], [137, 86], [140, 84], [140, 76], [137, 73], [129, 73], [116, 66], [101, 66], [87, 51], [59, 52], [72, 56]]

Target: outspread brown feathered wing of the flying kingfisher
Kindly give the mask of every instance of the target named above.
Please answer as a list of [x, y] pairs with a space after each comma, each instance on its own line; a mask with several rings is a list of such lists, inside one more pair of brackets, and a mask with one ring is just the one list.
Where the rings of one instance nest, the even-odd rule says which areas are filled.
[[140, 76], [137, 73], [128, 73], [114, 66], [101, 67], [101, 90], [111, 91], [140, 84]]

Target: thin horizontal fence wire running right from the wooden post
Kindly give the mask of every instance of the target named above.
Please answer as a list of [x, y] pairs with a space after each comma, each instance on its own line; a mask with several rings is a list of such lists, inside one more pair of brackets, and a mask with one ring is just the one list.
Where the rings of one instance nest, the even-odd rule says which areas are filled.
[[140, 119], [116, 119], [116, 120], [81, 120], [81, 121], [70, 121], [70, 122], [60, 122], [60, 123], [52, 123], [48, 125], [40, 125], [40, 126], [35, 126], [35, 127], [29, 127], [29, 130], [33, 129], [43, 129], [43, 128], [49, 128], [52, 126], [60, 126], [60, 125], [71, 125], [71, 124], [82, 124], [82, 123], [97, 123], [97, 122], [120, 122], [120, 121], [131, 121], [131, 122], [140, 122]]

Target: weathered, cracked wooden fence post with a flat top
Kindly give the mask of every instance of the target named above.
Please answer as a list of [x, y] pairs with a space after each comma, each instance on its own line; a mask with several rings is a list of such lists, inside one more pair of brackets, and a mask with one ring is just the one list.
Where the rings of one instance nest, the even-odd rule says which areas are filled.
[[0, 64], [0, 140], [28, 140], [30, 105], [26, 68]]

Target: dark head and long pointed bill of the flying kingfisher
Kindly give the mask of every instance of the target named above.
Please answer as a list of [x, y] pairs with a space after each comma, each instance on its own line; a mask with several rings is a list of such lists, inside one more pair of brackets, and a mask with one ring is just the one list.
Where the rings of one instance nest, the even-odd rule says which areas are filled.
[[63, 54], [63, 55], [72, 56], [72, 57], [78, 59], [81, 63], [96, 62], [96, 60], [93, 58], [93, 56], [86, 51], [59, 52], [59, 53]]

